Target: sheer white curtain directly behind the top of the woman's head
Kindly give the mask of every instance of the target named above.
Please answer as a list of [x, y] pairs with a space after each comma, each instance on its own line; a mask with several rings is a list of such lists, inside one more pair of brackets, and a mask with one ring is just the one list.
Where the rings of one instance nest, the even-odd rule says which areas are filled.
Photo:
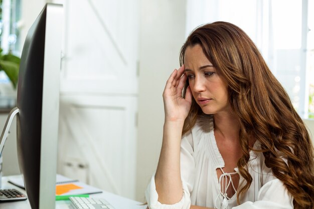
[[187, 0], [186, 37], [193, 29], [206, 23], [215, 21], [233, 23], [250, 36], [273, 70], [271, 18], [270, 0]]

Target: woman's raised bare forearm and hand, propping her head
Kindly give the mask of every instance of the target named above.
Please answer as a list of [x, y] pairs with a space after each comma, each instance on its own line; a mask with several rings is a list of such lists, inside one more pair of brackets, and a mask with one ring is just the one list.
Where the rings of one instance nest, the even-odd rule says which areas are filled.
[[182, 89], [186, 79], [184, 66], [182, 66], [171, 74], [163, 94], [165, 124], [163, 145], [155, 174], [155, 185], [158, 201], [164, 204], [177, 203], [183, 196], [180, 144], [183, 124], [192, 102], [190, 89], [187, 90], [186, 99], [182, 98]]

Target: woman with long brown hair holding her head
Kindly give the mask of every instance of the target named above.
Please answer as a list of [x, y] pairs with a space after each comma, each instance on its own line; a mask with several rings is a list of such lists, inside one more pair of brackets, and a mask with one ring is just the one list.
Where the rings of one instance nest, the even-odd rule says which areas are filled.
[[311, 140], [249, 37], [226, 22], [201, 26], [180, 62], [163, 94], [148, 206], [314, 208]]

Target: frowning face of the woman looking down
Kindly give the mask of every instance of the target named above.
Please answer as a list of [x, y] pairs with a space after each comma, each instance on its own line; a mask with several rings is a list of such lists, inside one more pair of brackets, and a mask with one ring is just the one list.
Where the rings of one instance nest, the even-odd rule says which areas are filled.
[[184, 63], [193, 97], [203, 112], [229, 112], [227, 82], [207, 59], [199, 44], [186, 49]]

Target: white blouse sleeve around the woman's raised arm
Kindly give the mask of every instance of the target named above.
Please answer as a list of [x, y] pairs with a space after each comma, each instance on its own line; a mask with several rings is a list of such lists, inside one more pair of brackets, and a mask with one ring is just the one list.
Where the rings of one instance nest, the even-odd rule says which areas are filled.
[[158, 193], [155, 186], [155, 176], [150, 179], [150, 183], [145, 191], [145, 198], [150, 209], [190, 209], [190, 192], [193, 189], [195, 178], [195, 161], [193, 157], [193, 141], [191, 132], [183, 136], [180, 153], [181, 180], [183, 186], [182, 199], [175, 204], [162, 204], [158, 201]]

